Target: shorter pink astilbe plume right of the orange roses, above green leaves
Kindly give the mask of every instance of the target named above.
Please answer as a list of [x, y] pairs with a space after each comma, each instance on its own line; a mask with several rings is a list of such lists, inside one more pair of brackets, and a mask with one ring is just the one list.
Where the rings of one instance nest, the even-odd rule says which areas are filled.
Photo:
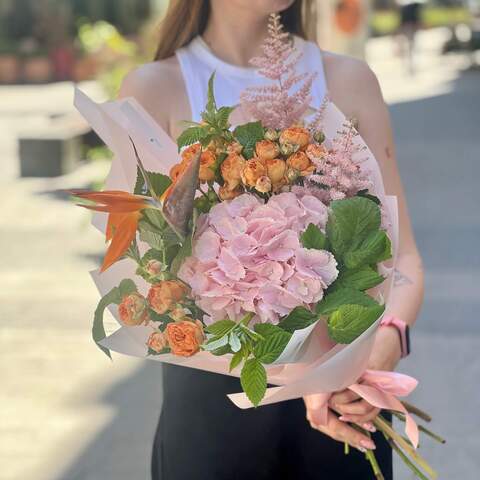
[[349, 121], [333, 140], [333, 148], [318, 157], [311, 156], [316, 171], [306, 178], [306, 184], [320, 186], [317, 196], [325, 203], [356, 195], [369, 189], [371, 180], [360, 170], [362, 158], [358, 158], [364, 147], [355, 142], [358, 135]]

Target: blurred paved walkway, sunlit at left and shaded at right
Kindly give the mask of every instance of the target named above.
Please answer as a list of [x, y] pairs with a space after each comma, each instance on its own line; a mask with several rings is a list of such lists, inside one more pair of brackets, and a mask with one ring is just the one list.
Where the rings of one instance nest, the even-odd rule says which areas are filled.
[[[445, 447], [423, 446], [425, 456], [441, 479], [474, 480], [480, 469], [480, 73], [462, 73], [462, 57], [440, 57], [438, 40], [420, 38], [414, 78], [388, 40], [372, 42], [369, 58], [391, 104], [427, 269], [414, 355], [401, 369], [420, 379], [414, 400], [448, 437]], [[59, 89], [0, 88], [0, 479], [146, 480], [160, 367], [120, 356], [112, 364], [92, 344], [97, 294], [86, 272], [98, 264], [103, 240], [87, 213], [57, 192], [102, 178], [106, 166], [13, 180], [16, 132], [27, 121], [42, 121], [44, 112], [71, 108], [70, 87]], [[397, 472], [397, 479], [411, 478], [402, 466]]]

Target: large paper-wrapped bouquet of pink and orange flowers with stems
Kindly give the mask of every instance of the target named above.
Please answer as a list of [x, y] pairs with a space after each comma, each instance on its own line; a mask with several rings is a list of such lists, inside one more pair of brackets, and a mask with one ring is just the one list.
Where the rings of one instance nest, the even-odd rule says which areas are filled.
[[[217, 106], [212, 74], [202, 121], [177, 146], [133, 99], [96, 105], [77, 91], [115, 153], [107, 190], [72, 192], [108, 214], [94, 219], [110, 243], [93, 272], [93, 338], [107, 355], [239, 376], [229, 398], [240, 408], [322, 392], [326, 412], [331, 392], [356, 389], [406, 422], [407, 439], [375, 421], [420, 478], [435, 478], [415, 451], [410, 413], [422, 412], [395, 396], [416, 381], [365, 371], [391, 287], [395, 198], [353, 122], [328, 98], [310, 111], [314, 74], [296, 73], [277, 15], [269, 32], [253, 63], [272, 84]], [[239, 109], [249, 121], [232, 127]], [[121, 326], [109, 336], [107, 308]]]

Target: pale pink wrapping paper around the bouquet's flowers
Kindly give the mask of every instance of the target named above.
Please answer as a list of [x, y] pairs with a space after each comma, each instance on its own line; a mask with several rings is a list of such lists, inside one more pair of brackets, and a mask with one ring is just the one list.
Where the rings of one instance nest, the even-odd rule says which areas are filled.
[[[168, 173], [170, 168], [179, 162], [176, 144], [133, 98], [97, 104], [77, 89], [75, 106], [114, 153], [106, 188], [133, 191], [137, 167], [129, 136], [134, 140], [146, 170]], [[324, 133], [327, 140], [335, 138], [345, 122], [345, 116], [333, 103], [329, 103], [324, 115]], [[362, 159], [360, 168], [368, 172], [373, 181], [371, 190], [382, 202], [387, 219], [386, 228], [392, 240], [394, 258], [388, 264], [382, 265], [382, 273], [387, 280], [370, 292], [388, 303], [395, 254], [398, 251], [397, 201], [396, 197], [385, 194], [380, 169], [372, 152], [360, 136], [356, 137], [356, 141], [364, 147], [363, 151], [357, 154]], [[104, 231], [105, 222], [105, 214], [94, 215], [93, 224], [98, 229]], [[93, 271], [91, 275], [102, 296], [117, 286], [123, 278], [134, 280], [143, 294], [146, 294], [148, 289], [146, 282], [135, 275], [135, 266], [129, 260], [122, 260], [103, 273]], [[116, 307], [112, 306], [110, 311], [118, 321]], [[310, 393], [328, 394], [355, 384], [366, 369], [379, 323], [380, 319], [349, 345], [335, 345], [331, 342], [322, 321], [297, 330], [277, 361], [267, 367], [268, 382], [276, 386], [267, 389], [261, 405], [299, 398]], [[145, 342], [151, 331], [149, 326], [120, 326], [101, 343], [106, 348], [125, 355], [146, 357]], [[188, 358], [172, 354], [148, 358], [229, 374], [230, 355], [217, 357], [208, 352], [200, 352]], [[230, 375], [239, 376], [240, 372], [235, 369]], [[240, 408], [252, 406], [244, 393], [232, 393], [229, 398]]]

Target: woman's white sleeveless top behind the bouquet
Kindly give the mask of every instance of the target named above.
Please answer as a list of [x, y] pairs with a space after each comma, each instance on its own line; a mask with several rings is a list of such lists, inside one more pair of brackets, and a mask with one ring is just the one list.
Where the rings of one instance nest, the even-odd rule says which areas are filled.
[[[325, 72], [322, 54], [317, 45], [295, 36], [295, 47], [303, 55], [297, 63], [298, 73], [317, 72], [312, 86], [311, 106], [318, 109], [326, 94]], [[240, 67], [216, 57], [202, 37], [195, 37], [188, 45], [176, 52], [187, 90], [192, 120], [201, 120], [201, 113], [207, 102], [208, 79], [215, 71], [215, 99], [217, 105], [238, 105], [240, 93], [249, 86], [271, 83], [253, 67]]]

